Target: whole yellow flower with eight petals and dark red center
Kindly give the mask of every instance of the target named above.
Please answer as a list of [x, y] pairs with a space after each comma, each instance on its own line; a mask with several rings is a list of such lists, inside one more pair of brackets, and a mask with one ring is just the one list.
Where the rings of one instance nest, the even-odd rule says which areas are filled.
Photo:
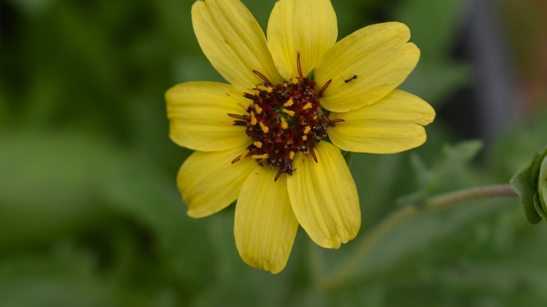
[[360, 228], [356, 185], [340, 149], [395, 153], [426, 140], [435, 111], [397, 90], [419, 49], [398, 22], [337, 39], [330, 0], [281, 0], [268, 41], [238, 0], [196, 1], [203, 53], [229, 84], [188, 82], [166, 93], [170, 137], [195, 152], [177, 177], [191, 217], [237, 200], [243, 261], [272, 273], [298, 225], [339, 248]]

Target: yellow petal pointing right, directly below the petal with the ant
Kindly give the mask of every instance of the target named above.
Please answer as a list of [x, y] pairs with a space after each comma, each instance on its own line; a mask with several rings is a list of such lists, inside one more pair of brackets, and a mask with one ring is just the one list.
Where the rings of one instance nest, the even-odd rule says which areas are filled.
[[426, 142], [424, 125], [435, 118], [435, 110], [420, 97], [403, 90], [360, 109], [331, 113], [331, 119], [343, 123], [330, 127], [332, 144], [345, 151], [396, 153]]

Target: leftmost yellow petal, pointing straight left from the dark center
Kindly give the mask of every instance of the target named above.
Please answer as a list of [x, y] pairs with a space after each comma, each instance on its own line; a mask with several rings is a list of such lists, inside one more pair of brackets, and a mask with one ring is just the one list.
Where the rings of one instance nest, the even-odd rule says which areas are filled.
[[173, 142], [189, 149], [220, 151], [252, 143], [245, 127], [231, 125], [227, 114], [245, 114], [237, 103], [249, 104], [229, 90], [232, 86], [215, 82], [187, 82], [166, 93], [169, 135]]

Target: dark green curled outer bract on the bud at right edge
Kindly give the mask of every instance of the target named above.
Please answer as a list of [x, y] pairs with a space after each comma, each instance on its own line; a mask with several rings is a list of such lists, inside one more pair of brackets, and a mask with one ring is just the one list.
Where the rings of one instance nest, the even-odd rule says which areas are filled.
[[520, 203], [524, 207], [526, 219], [530, 224], [537, 224], [541, 221], [541, 216], [534, 205], [534, 196], [536, 189], [532, 184], [532, 164], [527, 168], [517, 172], [509, 181], [511, 188], [520, 198]]

